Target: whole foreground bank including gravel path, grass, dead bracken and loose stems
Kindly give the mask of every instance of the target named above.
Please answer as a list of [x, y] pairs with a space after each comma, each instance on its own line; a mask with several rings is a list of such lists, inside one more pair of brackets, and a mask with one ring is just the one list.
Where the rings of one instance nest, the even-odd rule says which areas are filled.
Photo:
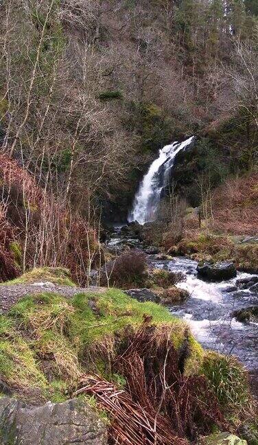
[[45, 272], [53, 284], [40, 270], [0, 286], [3, 302], [13, 297], [0, 315], [1, 391], [30, 404], [86, 394], [121, 445], [188, 444], [215, 425], [235, 431], [250, 422], [246, 372], [235, 358], [204, 352], [157, 304], [117, 289], [79, 293], [64, 285], [67, 271]]

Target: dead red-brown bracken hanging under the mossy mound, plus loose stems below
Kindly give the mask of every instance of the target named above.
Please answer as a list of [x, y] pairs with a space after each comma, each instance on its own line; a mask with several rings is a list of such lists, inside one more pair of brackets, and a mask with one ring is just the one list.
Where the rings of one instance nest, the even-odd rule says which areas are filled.
[[183, 375], [185, 344], [177, 352], [171, 326], [156, 328], [145, 317], [135, 332], [127, 328], [116, 346], [113, 372], [126, 378], [117, 389], [99, 376], [83, 376], [75, 394], [95, 396], [110, 415], [111, 443], [119, 445], [185, 445], [217, 424], [226, 429], [218, 400], [204, 376]]

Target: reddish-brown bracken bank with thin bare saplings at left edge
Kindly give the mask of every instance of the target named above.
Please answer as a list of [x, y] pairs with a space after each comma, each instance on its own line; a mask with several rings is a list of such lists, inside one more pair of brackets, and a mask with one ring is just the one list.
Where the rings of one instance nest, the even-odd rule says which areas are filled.
[[1, 279], [19, 273], [10, 251], [15, 232], [22, 255], [20, 273], [36, 266], [67, 266], [76, 282], [88, 284], [89, 270], [99, 255], [96, 231], [5, 155], [0, 155], [0, 175], [0, 224], [6, 233], [0, 242]]

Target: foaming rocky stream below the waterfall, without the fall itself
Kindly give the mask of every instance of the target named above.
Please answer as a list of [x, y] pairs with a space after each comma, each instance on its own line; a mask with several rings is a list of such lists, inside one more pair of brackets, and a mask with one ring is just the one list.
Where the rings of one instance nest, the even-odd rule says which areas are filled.
[[[120, 238], [117, 233], [110, 240], [109, 247], [123, 248], [125, 242], [131, 248], [142, 248], [139, 240]], [[188, 290], [190, 297], [182, 304], [169, 306], [169, 311], [185, 319], [204, 348], [237, 356], [257, 383], [258, 323], [239, 323], [232, 312], [258, 305], [257, 292], [241, 290], [237, 286], [239, 279], [258, 275], [238, 272], [236, 278], [228, 281], [206, 282], [197, 275], [198, 263], [189, 258], [157, 260], [156, 255], [147, 255], [147, 261], [150, 269], [166, 269], [185, 275], [185, 280], [177, 286]]]

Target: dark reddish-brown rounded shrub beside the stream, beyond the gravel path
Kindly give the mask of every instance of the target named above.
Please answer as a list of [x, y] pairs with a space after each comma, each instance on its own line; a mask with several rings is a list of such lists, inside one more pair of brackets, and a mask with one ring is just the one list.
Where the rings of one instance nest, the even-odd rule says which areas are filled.
[[114, 262], [102, 270], [100, 284], [128, 288], [141, 285], [144, 282], [146, 270], [145, 253], [130, 250], [122, 253]]

